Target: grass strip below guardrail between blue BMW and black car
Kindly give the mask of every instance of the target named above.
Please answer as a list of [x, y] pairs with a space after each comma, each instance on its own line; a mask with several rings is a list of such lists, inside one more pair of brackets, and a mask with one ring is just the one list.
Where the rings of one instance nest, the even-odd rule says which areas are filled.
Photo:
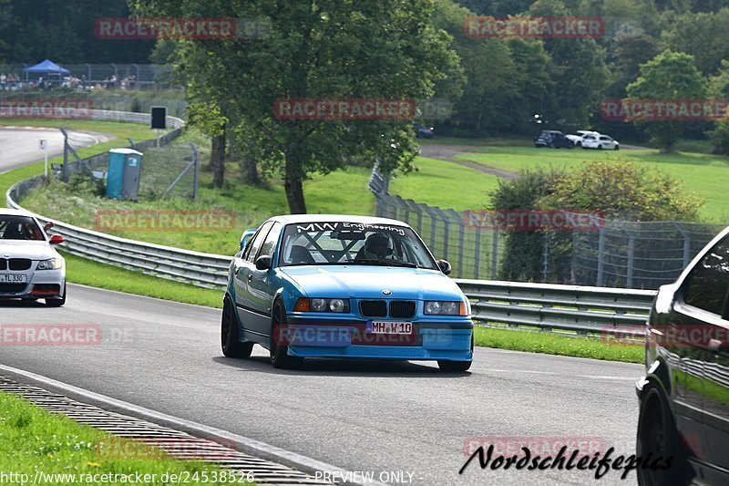
[[645, 348], [642, 345], [625, 344], [607, 338], [599, 340], [480, 326], [475, 331], [476, 346], [625, 363], [643, 363], [645, 360]]

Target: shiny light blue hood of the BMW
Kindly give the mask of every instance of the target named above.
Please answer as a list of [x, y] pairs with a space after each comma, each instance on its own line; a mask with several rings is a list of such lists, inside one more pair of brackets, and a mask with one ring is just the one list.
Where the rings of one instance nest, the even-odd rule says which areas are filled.
[[309, 297], [462, 300], [458, 285], [437, 270], [369, 265], [291, 266], [280, 269]]

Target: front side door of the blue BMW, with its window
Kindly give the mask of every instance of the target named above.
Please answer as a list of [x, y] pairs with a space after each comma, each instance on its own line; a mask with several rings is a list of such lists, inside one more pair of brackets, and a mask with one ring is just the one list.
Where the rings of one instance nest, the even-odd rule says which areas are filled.
[[251, 305], [252, 330], [262, 335], [270, 334], [271, 330], [271, 308], [273, 305], [273, 294], [276, 285], [272, 282], [272, 268], [258, 270], [255, 266], [256, 260], [262, 255], [273, 258], [279, 236], [281, 236], [282, 224], [274, 222], [266, 237], [263, 239], [258, 253], [250, 259], [252, 263], [248, 274], [247, 296]]

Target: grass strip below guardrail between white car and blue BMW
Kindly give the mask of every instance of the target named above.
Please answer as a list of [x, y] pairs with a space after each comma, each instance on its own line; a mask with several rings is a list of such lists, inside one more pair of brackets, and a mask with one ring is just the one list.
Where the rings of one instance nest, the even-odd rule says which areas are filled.
[[222, 290], [180, 284], [126, 268], [98, 264], [69, 253], [66, 258], [67, 281], [92, 287], [118, 290], [128, 294], [147, 295], [185, 304], [222, 308]]

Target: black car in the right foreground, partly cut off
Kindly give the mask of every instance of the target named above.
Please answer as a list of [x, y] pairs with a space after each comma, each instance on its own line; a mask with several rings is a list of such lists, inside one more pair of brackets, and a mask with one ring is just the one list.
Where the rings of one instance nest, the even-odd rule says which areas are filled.
[[661, 287], [646, 332], [636, 453], [673, 463], [639, 483], [729, 484], [729, 228]]

